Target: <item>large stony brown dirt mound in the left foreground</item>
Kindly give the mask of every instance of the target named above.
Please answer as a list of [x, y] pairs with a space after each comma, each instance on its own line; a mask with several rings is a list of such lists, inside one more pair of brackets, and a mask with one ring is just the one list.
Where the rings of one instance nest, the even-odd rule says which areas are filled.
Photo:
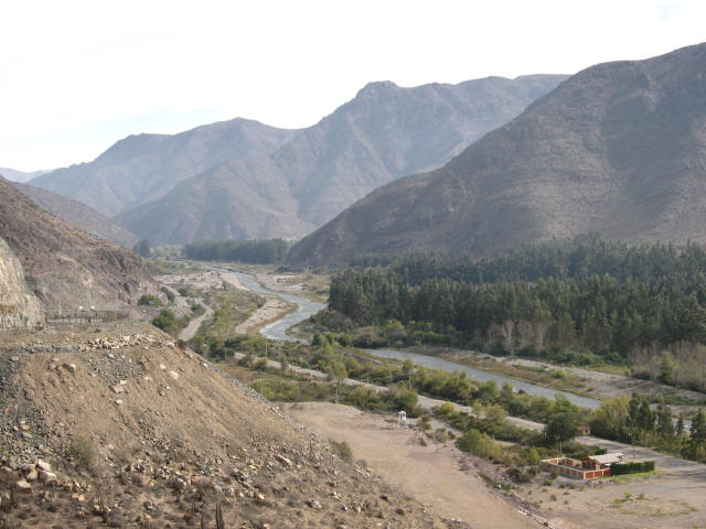
[[7, 527], [446, 527], [146, 324], [0, 335], [0, 409]]

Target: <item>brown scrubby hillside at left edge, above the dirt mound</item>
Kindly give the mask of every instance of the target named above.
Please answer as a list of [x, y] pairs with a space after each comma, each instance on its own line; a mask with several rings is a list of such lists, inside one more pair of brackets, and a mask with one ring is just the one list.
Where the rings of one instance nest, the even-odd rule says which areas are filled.
[[1, 177], [0, 237], [45, 309], [120, 309], [153, 290], [135, 253], [54, 217]]

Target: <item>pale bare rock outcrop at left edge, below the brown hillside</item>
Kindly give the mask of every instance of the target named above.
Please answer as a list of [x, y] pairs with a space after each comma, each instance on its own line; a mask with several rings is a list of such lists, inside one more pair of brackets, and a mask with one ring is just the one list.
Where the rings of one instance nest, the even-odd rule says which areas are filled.
[[33, 328], [43, 321], [42, 304], [24, 282], [20, 260], [0, 239], [0, 331]]

